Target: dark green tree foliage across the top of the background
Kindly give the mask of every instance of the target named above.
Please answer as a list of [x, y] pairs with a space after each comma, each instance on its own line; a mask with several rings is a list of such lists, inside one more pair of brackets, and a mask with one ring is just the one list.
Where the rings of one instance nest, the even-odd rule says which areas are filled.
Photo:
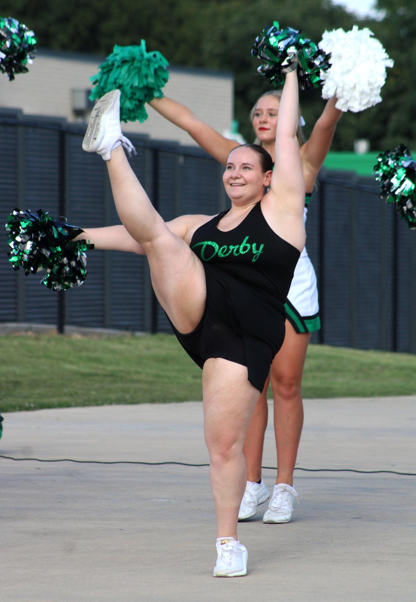
[[[301, 28], [319, 42], [325, 29], [369, 26], [394, 59], [382, 88], [384, 101], [363, 113], [346, 113], [333, 148], [351, 150], [355, 138], [373, 149], [416, 142], [416, 5], [414, 0], [378, 0], [381, 21], [357, 17], [330, 0], [3, 0], [2, 14], [34, 29], [40, 47], [107, 55], [113, 45], [146, 40], [171, 64], [232, 71], [235, 116], [252, 140], [248, 115], [268, 87], [250, 56], [255, 37], [273, 20]], [[97, 58], [98, 61], [98, 58]], [[306, 132], [324, 107], [320, 90], [301, 94]]]

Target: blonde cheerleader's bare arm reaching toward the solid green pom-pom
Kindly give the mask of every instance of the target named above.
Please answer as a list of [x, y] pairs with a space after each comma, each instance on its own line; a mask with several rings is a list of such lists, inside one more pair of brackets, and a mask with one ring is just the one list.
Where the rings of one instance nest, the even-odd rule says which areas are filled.
[[161, 116], [188, 132], [199, 146], [223, 165], [227, 163], [232, 149], [239, 146], [238, 142], [225, 138], [198, 119], [190, 109], [171, 98], [155, 98], [149, 105]]

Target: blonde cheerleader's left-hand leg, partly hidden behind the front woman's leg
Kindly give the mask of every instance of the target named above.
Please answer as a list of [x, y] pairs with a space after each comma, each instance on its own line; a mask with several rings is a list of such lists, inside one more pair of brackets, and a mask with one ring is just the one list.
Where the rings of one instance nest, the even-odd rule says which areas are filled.
[[264, 434], [268, 420], [267, 389], [269, 380], [270, 376], [267, 377], [264, 389], [256, 403], [252, 420], [250, 420], [249, 428], [247, 429], [246, 441], [244, 441], [247, 480], [253, 483], [258, 482], [262, 477]]

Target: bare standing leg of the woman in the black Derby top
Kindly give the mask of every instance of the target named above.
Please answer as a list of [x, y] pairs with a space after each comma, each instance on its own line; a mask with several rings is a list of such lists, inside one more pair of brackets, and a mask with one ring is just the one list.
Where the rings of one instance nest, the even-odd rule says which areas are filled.
[[222, 358], [206, 360], [202, 386], [217, 537], [238, 539], [238, 510], [247, 480], [243, 445], [259, 391], [247, 380], [245, 366]]

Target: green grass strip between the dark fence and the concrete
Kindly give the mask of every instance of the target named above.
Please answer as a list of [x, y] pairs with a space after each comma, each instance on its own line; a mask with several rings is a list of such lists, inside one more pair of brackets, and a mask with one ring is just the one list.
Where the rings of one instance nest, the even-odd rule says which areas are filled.
[[[173, 335], [0, 337], [2, 412], [202, 399], [201, 371]], [[311, 345], [304, 397], [416, 394], [416, 356]]]

